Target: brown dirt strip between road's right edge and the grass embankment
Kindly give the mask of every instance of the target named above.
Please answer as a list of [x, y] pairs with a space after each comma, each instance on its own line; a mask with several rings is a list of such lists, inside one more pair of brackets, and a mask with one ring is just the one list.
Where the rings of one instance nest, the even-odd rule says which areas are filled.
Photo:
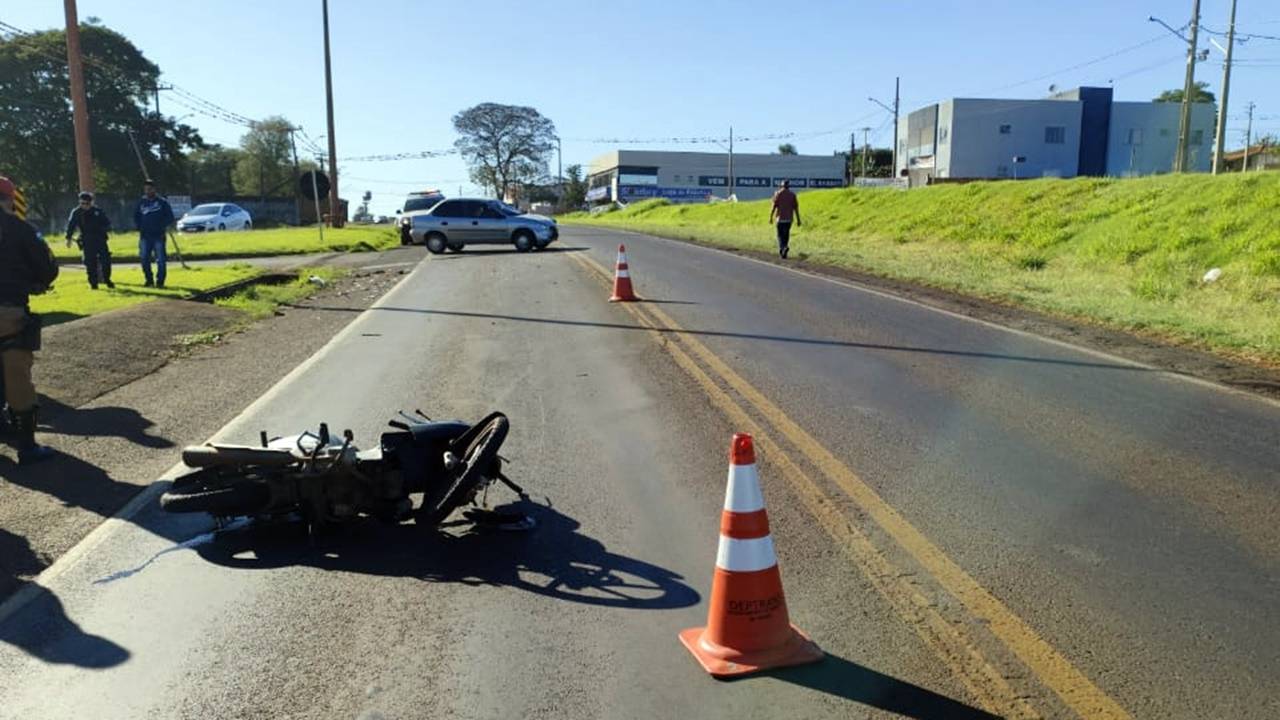
[[[701, 247], [713, 247], [676, 237], [668, 240], [699, 245]], [[719, 250], [774, 265], [785, 265], [814, 275], [854, 281], [859, 284], [892, 292], [893, 295], [910, 297], [932, 307], [988, 320], [1007, 328], [1070, 342], [1082, 347], [1110, 352], [1180, 375], [1202, 378], [1280, 400], [1280, 368], [1261, 365], [1244, 359], [1228, 357], [1197, 347], [1175, 345], [1167, 338], [1140, 336], [1102, 327], [1083, 319], [1060, 318], [993, 300], [960, 295], [948, 290], [895, 281], [847, 268], [808, 263], [797, 260], [794, 256], [782, 261], [769, 252], [732, 247], [721, 247]]]

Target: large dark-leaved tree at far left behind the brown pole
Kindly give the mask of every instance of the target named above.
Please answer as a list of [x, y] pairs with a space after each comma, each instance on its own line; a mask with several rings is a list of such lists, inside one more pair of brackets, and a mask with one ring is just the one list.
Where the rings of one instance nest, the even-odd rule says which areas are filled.
[[[81, 26], [93, 182], [99, 192], [140, 192], [142, 170], [132, 132], [161, 187], [186, 187], [186, 151], [202, 141], [195, 128], [148, 110], [160, 68], [128, 38], [95, 23]], [[23, 186], [33, 214], [77, 190], [76, 140], [65, 31], [0, 40], [0, 173]]]

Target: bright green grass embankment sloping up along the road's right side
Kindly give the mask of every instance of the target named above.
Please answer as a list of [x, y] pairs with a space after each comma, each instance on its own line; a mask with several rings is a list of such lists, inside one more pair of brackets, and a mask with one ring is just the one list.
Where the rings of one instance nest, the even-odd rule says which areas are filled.
[[[1280, 364], [1280, 173], [845, 188], [800, 208], [794, 259]], [[768, 214], [657, 200], [564, 220], [774, 252]]]

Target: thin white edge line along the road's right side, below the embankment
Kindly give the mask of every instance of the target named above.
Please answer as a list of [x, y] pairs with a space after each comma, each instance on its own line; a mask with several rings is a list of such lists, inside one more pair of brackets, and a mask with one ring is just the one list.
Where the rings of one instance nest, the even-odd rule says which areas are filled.
[[[1165, 378], [1171, 378], [1171, 379], [1175, 379], [1175, 380], [1181, 380], [1181, 382], [1185, 382], [1185, 383], [1192, 383], [1192, 384], [1202, 386], [1202, 387], [1208, 388], [1208, 389], [1216, 389], [1216, 391], [1220, 391], [1220, 392], [1226, 392], [1229, 395], [1234, 395], [1234, 396], [1240, 397], [1240, 398], [1253, 400], [1253, 401], [1261, 402], [1263, 405], [1270, 405], [1272, 407], [1280, 409], [1280, 400], [1274, 400], [1274, 398], [1270, 398], [1270, 397], [1267, 397], [1265, 395], [1258, 395], [1256, 392], [1249, 392], [1249, 391], [1245, 391], [1245, 389], [1231, 387], [1231, 386], [1225, 384], [1225, 383], [1220, 383], [1220, 382], [1215, 382], [1215, 380], [1208, 380], [1208, 379], [1204, 379], [1204, 378], [1198, 378], [1196, 375], [1187, 375], [1187, 374], [1183, 374], [1183, 373], [1175, 373], [1174, 370], [1169, 370], [1169, 369], [1165, 369], [1165, 368], [1157, 368], [1156, 365], [1148, 365], [1147, 363], [1140, 363], [1138, 360], [1130, 360], [1128, 357], [1121, 357], [1119, 355], [1111, 355], [1110, 352], [1106, 352], [1103, 350], [1094, 350], [1092, 347], [1085, 347], [1083, 345], [1075, 345], [1075, 343], [1068, 342], [1065, 340], [1057, 340], [1057, 338], [1053, 338], [1053, 337], [1036, 334], [1036, 333], [1033, 333], [1030, 331], [1023, 331], [1023, 329], [1018, 329], [1018, 328], [1011, 328], [1009, 325], [1001, 325], [1000, 323], [996, 323], [996, 322], [992, 322], [992, 320], [984, 320], [982, 318], [974, 318], [972, 315], [965, 315], [963, 313], [956, 313], [955, 310], [947, 310], [945, 307], [937, 307], [934, 305], [929, 305], [928, 302], [920, 302], [919, 300], [913, 300], [910, 297], [904, 297], [901, 295], [893, 295], [892, 292], [883, 291], [883, 290], [879, 290], [879, 288], [874, 288], [874, 287], [870, 287], [870, 286], [867, 286], [867, 284], [861, 284], [861, 283], [858, 283], [855, 281], [847, 281], [847, 279], [844, 279], [844, 278], [835, 278], [835, 277], [826, 275], [826, 274], [822, 274], [822, 273], [815, 272], [815, 270], [801, 270], [800, 268], [790, 268], [787, 265], [778, 265], [776, 263], [769, 263], [767, 260], [760, 260], [758, 258], [751, 258], [750, 255], [742, 255], [742, 254], [733, 252], [733, 251], [723, 249], [723, 247], [714, 247], [714, 246], [710, 246], [710, 245], [701, 245], [701, 243], [698, 243], [698, 242], [690, 242], [690, 241], [684, 241], [684, 240], [675, 240], [675, 238], [671, 238], [671, 237], [662, 237], [662, 236], [657, 236], [657, 234], [645, 234], [643, 232], [636, 232], [636, 231], [605, 228], [605, 227], [600, 227], [600, 225], [577, 225], [577, 227], [579, 228], [593, 228], [593, 229], [598, 228], [598, 229], [603, 229], [603, 231], [607, 231], [607, 232], [634, 234], [636, 237], [643, 237], [643, 238], [646, 238], [646, 240], [659, 240], [662, 242], [675, 242], [675, 243], [678, 243], [678, 245], [684, 245], [686, 247], [695, 247], [695, 249], [699, 249], [699, 250], [705, 250], [708, 252], [719, 252], [719, 254], [723, 254], [723, 255], [732, 255], [733, 258], [739, 258], [739, 259], [746, 260], [749, 263], [755, 263], [758, 265], [764, 265], [765, 268], [774, 268], [777, 270], [785, 270], [785, 272], [788, 272], [788, 273], [795, 273], [795, 274], [801, 275], [801, 277], [806, 277], [806, 278], [812, 278], [812, 279], [817, 279], [817, 281], [828, 282], [828, 283], [837, 284], [837, 286], [841, 286], [841, 287], [847, 287], [850, 290], [856, 290], [859, 292], [867, 292], [867, 293], [870, 293], [870, 295], [874, 295], [874, 296], [878, 296], [878, 297], [884, 297], [884, 299], [888, 299], [888, 300], [896, 300], [899, 302], [905, 302], [908, 305], [915, 305], [916, 307], [923, 307], [925, 310], [932, 310], [934, 313], [940, 313], [942, 315], [947, 315], [947, 316], [956, 318], [956, 319], [960, 319], [960, 320], [968, 320], [970, 323], [977, 323], [979, 325], [984, 325], [984, 327], [988, 327], [988, 328], [992, 328], [992, 329], [997, 329], [997, 331], [1002, 331], [1002, 332], [1006, 332], [1006, 333], [1011, 333], [1011, 334], [1015, 334], [1015, 336], [1019, 336], [1019, 337], [1024, 337], [1024, 338], [1028, 338], [1028, 340], [1036, 340], [1036, 341], [1039, 341], [1039, 342], [1047, 342], [1050, 345], [1056, 345], [1056, 346], [1064, 347], [1066, 350], [1073, 350], [1075, 352], [1083, 352], [1085, 355], [1092, 355], [1093, 357], [1100, 357], [1100, 359], [1103, 359], [1103, 360], [1110, 360], [1112, 363], [1119, 363], [1119, 364], [1129, 365], [1129, 366], [1133, 366], [1133, 368], [1140, 368], [1143, 370], [1151, 370], [1152, 373], [1160, 374], [1160, 375], [1162, 375]], [[900, 282], [909, 282], [909, 281], [900, 281]]]

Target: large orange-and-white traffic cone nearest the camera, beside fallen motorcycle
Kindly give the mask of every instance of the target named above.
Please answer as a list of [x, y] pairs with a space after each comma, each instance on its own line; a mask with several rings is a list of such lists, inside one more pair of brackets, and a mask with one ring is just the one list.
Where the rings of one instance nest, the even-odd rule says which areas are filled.
[[751, 436], [733, 436], [730, 460], [707, 626], [680, 642], [717, 678], [817, 662], [822, 650], [787, 618]]

